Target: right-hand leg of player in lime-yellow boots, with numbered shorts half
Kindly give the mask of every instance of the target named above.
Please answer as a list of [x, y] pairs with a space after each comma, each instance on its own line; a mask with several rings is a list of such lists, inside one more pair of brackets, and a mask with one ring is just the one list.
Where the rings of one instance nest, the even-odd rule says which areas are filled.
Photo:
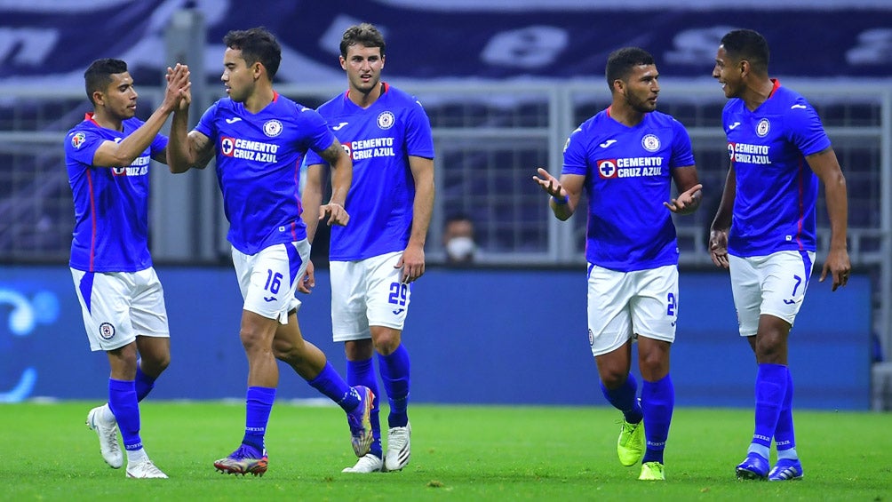
[[665, 480], [664, 450], [675, 406], [669, 353], [678, 319], [678, 268], [659, 267], [632, 273], [638, 295], [632, 299], [633, 331], [638, 333], [641, 407], [645, 451], [640, 480]]

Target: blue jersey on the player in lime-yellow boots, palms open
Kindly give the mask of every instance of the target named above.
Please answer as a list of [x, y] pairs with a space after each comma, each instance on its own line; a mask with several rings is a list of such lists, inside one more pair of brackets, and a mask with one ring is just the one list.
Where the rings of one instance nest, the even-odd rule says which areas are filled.
[[620, 272], [678, 264], [671, 211], [672, 169], [694, 165], [690, 136], [659, 111], [630, 128], [610, 109], [582, 123], [564, 148], [563, 174], [585, 177], [585, 258]]

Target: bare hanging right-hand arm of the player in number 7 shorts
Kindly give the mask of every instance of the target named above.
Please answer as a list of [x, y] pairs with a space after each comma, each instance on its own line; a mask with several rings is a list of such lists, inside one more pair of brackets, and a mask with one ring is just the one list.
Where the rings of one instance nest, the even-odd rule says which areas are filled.
[[821, 281], [830, 274], [833, 277], [832, 291], [848, 283], [852, 264], [848, 259], [848, 193], [846, 177], [839, 168], [839, 160], [833, 147], [805, 157], [809, 167], [824, 184], [827, 198], [827, 212], [830, 216], [830, 251], [821, 273]]

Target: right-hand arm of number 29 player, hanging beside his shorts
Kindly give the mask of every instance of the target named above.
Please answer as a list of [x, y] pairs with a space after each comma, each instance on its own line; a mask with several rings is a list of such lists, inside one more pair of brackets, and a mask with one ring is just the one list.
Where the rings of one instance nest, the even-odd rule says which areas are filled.
[[404, 283], [410, 283], [425, 273], [425, 241], [434, 213], [434, 159], [409, 155], [409, 169], [415, 180], [412, 229], [409, 244], [397, 262], [397, 267], [402, 268]]

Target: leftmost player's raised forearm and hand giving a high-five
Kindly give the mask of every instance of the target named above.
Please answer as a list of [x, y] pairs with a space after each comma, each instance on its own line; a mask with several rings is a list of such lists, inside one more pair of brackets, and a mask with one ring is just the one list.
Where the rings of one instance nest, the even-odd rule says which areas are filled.
[[158, 136], [164, 122], [177, 107], [183, 95], [189, 92], [189, 69], [186, 65], [177, 64], [176, 69], [169, 70], [167, 89], [164, 100], [153, 111], [145, 123], [122, 139], [119, 143], [105, 141], [99, 145], [93, 155], [93, 165], [101, 168], [119, 168], [129, 166]]

